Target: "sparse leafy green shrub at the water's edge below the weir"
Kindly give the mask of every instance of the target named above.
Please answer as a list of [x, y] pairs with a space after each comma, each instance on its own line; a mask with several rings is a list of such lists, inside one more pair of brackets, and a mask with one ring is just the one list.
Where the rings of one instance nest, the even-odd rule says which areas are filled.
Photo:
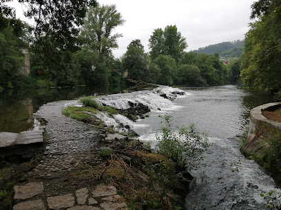
[[160, 154], [173, 159], [181, 167], [194, 170], [199, 167], [199, 161], [203, 159], [202, 153], [209, 146], [207, 137], [201, 135], [195, 129], [194, 124], [189, 128], [180, 128], [178, 132], [171, 130], [171, 116], [165, 115], [165, 127], [157, 137]]

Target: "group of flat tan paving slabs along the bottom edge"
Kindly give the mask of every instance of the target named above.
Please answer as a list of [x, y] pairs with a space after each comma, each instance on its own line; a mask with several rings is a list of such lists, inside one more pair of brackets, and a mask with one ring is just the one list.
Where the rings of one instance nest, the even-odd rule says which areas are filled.
[[14, 186], [14, 199], [21, 200], [21, 202], [14, 205], [13, 209], [127, 209], [124, 199], [118, 196], [117, 189], [114, 186], [98, 185], [94, 189], [84, 187], [62, 196], [26, 200], [37, 195], [40, 196], [43, 191], [42, 182]]

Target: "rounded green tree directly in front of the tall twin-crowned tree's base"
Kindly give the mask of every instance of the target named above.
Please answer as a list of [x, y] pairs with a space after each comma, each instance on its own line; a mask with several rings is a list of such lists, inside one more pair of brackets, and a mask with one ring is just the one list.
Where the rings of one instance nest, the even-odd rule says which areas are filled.
[[171, 56], [160, 55], [154, 60], [160, 69], [159, 84], [171, 85], [176, 80], [176, 60]]

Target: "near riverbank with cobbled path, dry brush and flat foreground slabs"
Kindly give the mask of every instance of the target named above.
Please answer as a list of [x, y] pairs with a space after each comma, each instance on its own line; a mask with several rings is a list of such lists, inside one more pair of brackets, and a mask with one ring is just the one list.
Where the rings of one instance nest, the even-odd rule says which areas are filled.
[[[42, 106], [45, 152], [1, 170], [4, 209], [171, 209], [184, 205], [188, 173], [143, 143], [98, 121], [61, 114], [66, 101]], [[99, 126], [99, 127], [98, 127]], [[14, 186], [14, 187], [13, 187]], [[13, 207], [12, 207], [13, 206]]]

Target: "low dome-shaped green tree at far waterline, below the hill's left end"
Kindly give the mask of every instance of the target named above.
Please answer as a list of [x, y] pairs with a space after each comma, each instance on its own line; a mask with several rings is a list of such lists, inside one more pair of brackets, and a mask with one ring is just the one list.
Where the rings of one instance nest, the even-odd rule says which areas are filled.
[[206, 86], [200, 69], [193, 65], [181, 65], [178, 69], [178, 84], [185, 86]]

